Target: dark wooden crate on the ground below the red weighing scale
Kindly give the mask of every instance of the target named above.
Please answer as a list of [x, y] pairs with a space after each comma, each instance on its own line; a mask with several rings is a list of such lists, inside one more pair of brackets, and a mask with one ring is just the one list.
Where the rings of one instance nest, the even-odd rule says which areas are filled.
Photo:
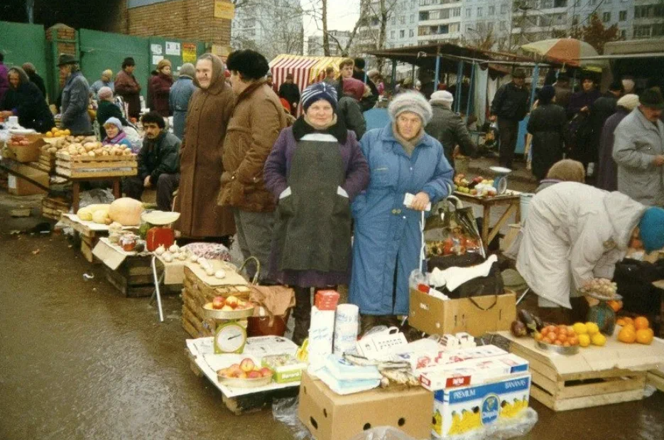
[[[122, 296], [128, 298], [151, 296], [155, 290], [151, 261], [151, 255], [135, 255], [126, 257], [115, 270], [104, 265], [106, 279]], [[157, 271], [159, 277], [160, 269], [157, 268]]]

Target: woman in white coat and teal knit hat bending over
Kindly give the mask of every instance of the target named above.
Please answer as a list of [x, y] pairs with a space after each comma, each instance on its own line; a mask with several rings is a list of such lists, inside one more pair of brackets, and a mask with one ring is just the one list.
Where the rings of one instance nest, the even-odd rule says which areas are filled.
[[584, 321], [587, 301], [579, 288], [596, 277], [612, 279], [633, 235], [646, 252], [663, 248], [664, 210], [576, 182], [556, 183], [535, 195], [516, 269], [539, 296], [540, 318]]

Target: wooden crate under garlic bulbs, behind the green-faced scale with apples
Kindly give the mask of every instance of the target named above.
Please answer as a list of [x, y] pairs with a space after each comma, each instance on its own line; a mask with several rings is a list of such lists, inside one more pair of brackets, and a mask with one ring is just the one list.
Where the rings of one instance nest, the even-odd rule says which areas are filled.
[[249, 289], [244, 286], [212, 287], [199, 279], [191, 269], [185, 266], [183, 289], [182, 323], [183, 328], [192, 338], [203, 338], [214, 334], [214, 321], [203, 318], [200, 308], [215, 296], [237, 296], [249, 299]]

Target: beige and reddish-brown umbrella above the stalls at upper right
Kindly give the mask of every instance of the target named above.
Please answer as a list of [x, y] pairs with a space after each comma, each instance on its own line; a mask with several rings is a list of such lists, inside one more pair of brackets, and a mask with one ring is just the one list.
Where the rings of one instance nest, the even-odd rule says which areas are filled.
[[584, 61], [583, 58], [599, 54], [592, 45], [575, 38], [552, 38], [550, 40], [535, 41], [535, 43], [522, 45], [521, 49], [577, 67], [606, 67], [605, 60]]

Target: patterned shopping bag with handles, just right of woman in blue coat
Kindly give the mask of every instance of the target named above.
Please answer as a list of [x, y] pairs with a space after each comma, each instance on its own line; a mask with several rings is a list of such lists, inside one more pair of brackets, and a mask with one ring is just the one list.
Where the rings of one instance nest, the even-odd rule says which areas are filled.
[[[450, 209], [451, 203], [455, 204], [454, 210]], [[472, 208], [463, 208], [454, 196], [435, 206], [425, 222], [424, 239], [427, 257], [484, 252]]]

